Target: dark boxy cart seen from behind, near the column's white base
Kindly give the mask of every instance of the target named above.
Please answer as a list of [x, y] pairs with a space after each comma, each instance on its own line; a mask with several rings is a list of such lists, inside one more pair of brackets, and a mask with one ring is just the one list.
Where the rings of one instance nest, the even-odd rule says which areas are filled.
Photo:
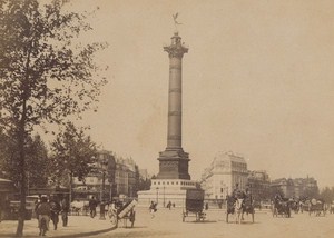
[[186, 208], [183, 210], [183, 221], [186, 217], [195, 217], [196, 221], [204, 221], [206, 214], [203, 212], [204, 190], [188, 189], [186, 191]]

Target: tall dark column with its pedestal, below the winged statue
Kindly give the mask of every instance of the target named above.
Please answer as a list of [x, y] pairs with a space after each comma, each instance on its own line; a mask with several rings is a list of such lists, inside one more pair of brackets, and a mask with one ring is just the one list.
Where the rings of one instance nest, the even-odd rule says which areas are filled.
[[189, 156], [181, 147], [183, 122], [183, 81], [181, 68], [184, 53], [188, 48], [181, 43], [178, 32], [171, 37], [171, 43], [164, 47], [169, 56], [168, 89], [168, 129], [167, 148], [159, 155], [158, 179], [190, 179], [188, 173]]

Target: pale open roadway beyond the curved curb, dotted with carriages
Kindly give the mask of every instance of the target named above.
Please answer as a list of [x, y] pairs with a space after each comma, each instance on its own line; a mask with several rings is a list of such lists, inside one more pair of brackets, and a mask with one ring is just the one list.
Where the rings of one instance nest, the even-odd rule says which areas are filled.
[[[327, 238], [334, 235], [334, 215], [326, 217], [308, 216], [308, 214], [293, 214], [292, 218], [273, 218], [269, 210], [257, 211], [255, 224], [245, 216], [242, 225], [226, 224], [224, 210], [208, 210], [205, 222], [194, 222], [195, 218], [181, 221], [181, 209], [159, 209], [155, 218], [150, 218], [148, 210], [137, 209], [134, 228], [117, 228], [99, 237], [145, 237], [145, 238]], [[92, 237], [92, 236], [91, 236]]]

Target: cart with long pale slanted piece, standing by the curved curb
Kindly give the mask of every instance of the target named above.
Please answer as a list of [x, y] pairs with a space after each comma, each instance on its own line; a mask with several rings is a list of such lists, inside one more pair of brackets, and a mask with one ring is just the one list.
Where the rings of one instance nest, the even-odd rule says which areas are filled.
[[131, 200], [127, 204], [125, 204], [121, 208], [117, 209], [117, 214], [111, 211], [110, 209], [108, 210], [108, 217], [115, 227], [118, 227], [119, 222], [122, 220], [122, 227], [128, 228], [128, 220], [130, 221], [130, 227], [134, 227], [135, 224], [135, 217], [136, 217], [136, 211], [135, 211], [135, 206], [137, 205], [136, 200]]

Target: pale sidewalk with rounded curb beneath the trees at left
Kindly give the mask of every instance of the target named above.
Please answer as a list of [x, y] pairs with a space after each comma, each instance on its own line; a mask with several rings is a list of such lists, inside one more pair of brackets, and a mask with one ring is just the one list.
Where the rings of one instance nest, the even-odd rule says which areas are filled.
[[[2, 220], [0, 222], [0, 237], [14, 237], [17, 230], [17, 220]], [[46, 237], [85, 237], [108, 232], [115, 228], [109, 220], [100, 220], [99, 217], [90, 218], [89, 216], [69, 216], [68, 226], [62, 227], [59, 217], [58, 229], [53, 230], [53, 224], [50, 221], [50, 230]], [[26, 220], [23, 237], [39, 237], [37, 219]]]

